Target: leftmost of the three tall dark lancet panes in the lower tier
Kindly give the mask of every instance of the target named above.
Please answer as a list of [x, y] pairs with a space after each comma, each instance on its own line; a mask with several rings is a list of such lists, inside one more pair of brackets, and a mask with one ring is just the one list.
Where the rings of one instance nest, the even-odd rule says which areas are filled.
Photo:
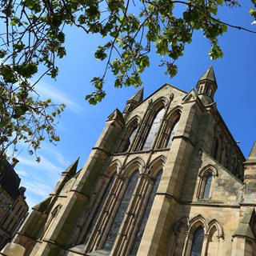
[[86, 244], [86, 242], [88, 242], [88, 240], [90, 238], [90, 234], [92, 233], [92, 231], [94, 229], [94, 226], [98, 220], [98, 216], [102, 211], [104, 203], [106, 202], [106, 198], [107, 198], [108, 194], [110, 194], [110, 188], [114, 183], [114, 178], [115, 178], [115, 174], [112, 175], [112, 177], [110, 178], [110, 181], [108, 182], [108, 184], [106, 186], [106, 190], [104, 191], [104, 194], [102, 195], [101, 201], [99, 202], [99, 204], [94, 212], [94, 217], [90, 220], [90, 225], [88, 226], [86, 234], [84, 236], [83, 244]]

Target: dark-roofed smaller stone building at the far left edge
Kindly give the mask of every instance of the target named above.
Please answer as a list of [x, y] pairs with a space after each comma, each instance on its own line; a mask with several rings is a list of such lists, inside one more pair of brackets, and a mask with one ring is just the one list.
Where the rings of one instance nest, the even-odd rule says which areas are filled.
[[26, 188], [19, 186], [20, 182], [14, 165], [6, 162], [0, 172], [0, 250], [14, 237], [28, 213]]

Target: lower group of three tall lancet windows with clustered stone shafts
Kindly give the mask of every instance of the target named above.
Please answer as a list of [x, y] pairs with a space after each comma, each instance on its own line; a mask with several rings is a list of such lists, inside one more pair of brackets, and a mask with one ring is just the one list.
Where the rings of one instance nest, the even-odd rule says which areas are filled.
[[83, 231], [84, 238], [76, 244], [82, 243], [86, 253], [104, 250], [113, 255], [138, 254], [161, 180], [162, 161], [161, 158], [161, 162], [154, 162], [148, 173], [142, 171], [144, 168], [141, 170], [145, 165], [142, 159], [135, 158], [122, 173], [114, 174], [101, 200], [98, 200], [98, 206], [92, 213], [94, 217], [84, 228], [87, 230], [86, 234]]

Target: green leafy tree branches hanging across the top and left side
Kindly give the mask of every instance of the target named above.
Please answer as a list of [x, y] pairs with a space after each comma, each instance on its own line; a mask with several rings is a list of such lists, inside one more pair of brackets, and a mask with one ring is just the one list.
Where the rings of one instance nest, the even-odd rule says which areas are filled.
[[[256, 18], [255, 0], [251, 2], [254, 8], [250, 14]], [[218, 37], [232, 25], [218, 18], [220, 6], [239, 6], [239, 1], [2, 0], [1, 29], [5, 27], [5, 33], [0, 34], [2, 154], [8, 145], [19, 140], [30, 142], [37, 150], [44, 139], [43, 133], [48, 134], [50, 141], [58, 141], [54, 117], [64, 106], [31, 95], [36, 94], [37, 82], [30, 84], [29, 79], [38, 73], [38, 66], [40, 70], [45, 67], [40, 78], [44, 74], [57, 77], [56, 59], [66, 55], [65, 26], [76, 26], [86, 34], [101, 34], [106, 38], [106, 44], [98, 46], [95, 52], [95, 58], [106, 62], [106, 70], [92, 78], [95, 90], [86, 96], [94, 105], [106, 95], [103, 85], [108, 70], [115, 76], [115, 87], [141, 86], [141, 74], [150, 66], [152, 50], [163, 57], [160, 66], [165, 67], [166, 74], [170, 77], [177, 74], [174, 62], [192, 41], [194, 30], [202, 30], [209, 40], [210, 58], [221, 58]], [[175, 14], [175, 8], [182, 8], [181, 16]], [[50, 109], [54, 109], [51, 114]]]

